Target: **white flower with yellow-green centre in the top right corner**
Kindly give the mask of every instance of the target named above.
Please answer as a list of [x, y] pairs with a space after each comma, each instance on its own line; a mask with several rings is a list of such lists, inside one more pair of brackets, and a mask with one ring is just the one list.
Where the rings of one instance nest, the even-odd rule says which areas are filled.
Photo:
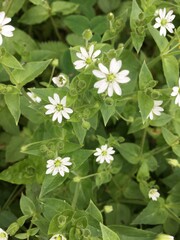
[[172, 15], [173, 11], [170, 10], [166, 14], [166, 8], [164, 8], [159, 9], [158, 14], [159, 17], [155, 18], [156, 23], [154, 24], [154, 28], [160, 28], [161, 36], [166, 36], [166, 30], [168, 30], [170, 33], [173, 33], [173, 28], [175, 28], [174, 24], [171, 23], [175, 18], [175, 15]]

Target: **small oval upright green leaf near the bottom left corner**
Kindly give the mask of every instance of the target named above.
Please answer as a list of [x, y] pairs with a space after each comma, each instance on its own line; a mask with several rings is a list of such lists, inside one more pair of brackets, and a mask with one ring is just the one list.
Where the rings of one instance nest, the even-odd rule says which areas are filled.
[[36, 213], [33, 201], [24, 194], [22, 194], [20, 199], [20, 208], [24, 215], [33, 216]]

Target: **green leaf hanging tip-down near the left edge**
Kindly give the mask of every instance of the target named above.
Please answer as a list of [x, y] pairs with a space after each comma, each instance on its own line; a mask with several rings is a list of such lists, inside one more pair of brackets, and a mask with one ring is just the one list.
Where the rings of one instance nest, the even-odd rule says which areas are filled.
[[7, 93], [4, 96], [5, 102], [7, 104], [7, 107], [9, 111], [11, 112], [16, 125], [18, 124], [21, 110], [20, 110], [20, 95], [19, 93], [13, 94], [13, 93]]

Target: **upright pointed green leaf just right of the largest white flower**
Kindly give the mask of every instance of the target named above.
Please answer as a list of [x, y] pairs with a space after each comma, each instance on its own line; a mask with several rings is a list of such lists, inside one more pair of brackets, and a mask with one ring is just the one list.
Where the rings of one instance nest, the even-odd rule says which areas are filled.
[[149, 83], [153, 80], [153, 76], [148, 69], [146, 62], [143, 62], [143, 65], [141, 67], [140, 73], [139, 73], [139, 88], [140, 90], [145, 90], [149, 87]]

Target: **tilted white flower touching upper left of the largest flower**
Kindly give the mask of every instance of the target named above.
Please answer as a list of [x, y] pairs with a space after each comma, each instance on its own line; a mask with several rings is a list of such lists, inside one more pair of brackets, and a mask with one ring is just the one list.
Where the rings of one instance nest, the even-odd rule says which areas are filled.
[[96, 57], [99, 56], [101, 50], [96, 50], [94, 52], [94, 45], [91, 45], [89, 51], [85, 48], [80, 47], [80, 52], [76, 53], [76, 56], [81, 60], [75, 61], [73, 64], [75, 65], [75, 69], [79, 70], [81, 68], [87, 68], [91, 63], [96, 61]]

